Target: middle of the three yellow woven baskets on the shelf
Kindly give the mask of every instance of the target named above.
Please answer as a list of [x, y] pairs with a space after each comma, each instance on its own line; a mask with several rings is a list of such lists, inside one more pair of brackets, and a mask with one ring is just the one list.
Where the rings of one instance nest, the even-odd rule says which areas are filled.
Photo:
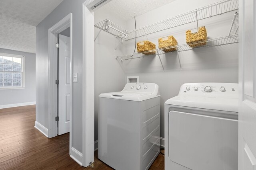
[[176, 47], [170, 48], [170, 49], [163, 49], [163, 48], [172, 47], [176, 45], [178, 45], [178, 42], [172, 35], [168, 36], [168, 39], [164, 39], [164, 40], [163, 38], [158, 39], [158, 48], [166, 53], [177, 51], [177, 48]]

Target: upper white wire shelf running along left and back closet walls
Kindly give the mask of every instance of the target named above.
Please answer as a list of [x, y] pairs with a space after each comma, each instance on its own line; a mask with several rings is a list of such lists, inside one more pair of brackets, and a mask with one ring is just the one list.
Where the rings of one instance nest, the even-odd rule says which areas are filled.
[[198, 20], [203, 20], [206, 18], [210, 18], [212, 16], [221, 15], [234, 10], [238, 10], [238, 0], [222, 0], [220, 2], [216, 2], [214, 4], [210, 4], [208, 6], [204, 6], [202, 8], [198, 8], [196, 10], [186, 12], [184, 14], [172, 18], [168, 18], [166, 20], [162, 20], [144, 27], [140, 27], [132, 31], [127, 31], [124, 28], [116, 25], [115, 23], [107, 19], [100, 21], [99, 23], [96, 23], [94, 26], [116, 37], [120, 37], [121, 39], [130, 40], [134, 39], [135, 37], [143, 37], [148, 34], [178, 27], [180, 25], [192, 23]]

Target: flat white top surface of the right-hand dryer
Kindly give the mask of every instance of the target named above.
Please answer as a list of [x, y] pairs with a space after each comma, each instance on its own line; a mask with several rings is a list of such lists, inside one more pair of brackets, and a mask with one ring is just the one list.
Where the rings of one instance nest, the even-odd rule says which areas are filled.
[[237, 98], [213, 98], [179, 95], [175, 96], [174, 98], [170, 98], [164, 104], [238, 112]]

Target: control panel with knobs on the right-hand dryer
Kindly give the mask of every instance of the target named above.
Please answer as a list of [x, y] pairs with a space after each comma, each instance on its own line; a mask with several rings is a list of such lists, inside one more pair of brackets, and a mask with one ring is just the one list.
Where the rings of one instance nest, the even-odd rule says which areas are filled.
[[238, 98], [238, 83], [186, 83], [179, 95]]

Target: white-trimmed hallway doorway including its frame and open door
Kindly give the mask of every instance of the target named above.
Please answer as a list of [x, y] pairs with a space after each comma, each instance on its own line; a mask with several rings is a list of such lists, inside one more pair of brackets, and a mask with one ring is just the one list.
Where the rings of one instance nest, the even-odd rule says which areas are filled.
[[[65, 32], [69, 37], [64, 36]], [[64, 33], [63, 33], [63, 32]], [[61, 33], [61, 34], [60, 34]], [[63, 38], [63, 42], [58, 42], [58, 37]], [[69, 42], [69, 43], [68, 43]], [[63, 55], [60, 57], [60, 64], [58, 60], [58, 47], [61, 45], [64, 50], [61, 50]], [[69, 152], [71, 154], [72, 149], [72, 13], [68, 14], [58, 23], [48, 29], [48, 56], [49, 56], [49, 82], [48, 82], [48, 137], [52, 138], [63, 133], [70, 132], [69, 137]], [[64, 56], [64, 57], [63, 57]], [[65, 57], [66, 56], [66, 57]], [[66, 60], [66, 61], [65, 61]], [[60, 68], [58, 68], [58, 65]], [[60, 69], [62, 69], [60, 71]], [[58, 72], [63, 72], [58, 74]], [[60, 80], [59, 80], [60, 78]], [[60, 84], [60, 90], [58, 89]], [[68, 86], [66, 86], [66, 84]], [[64, 97], [61, 97], [58, 101], [58, 93]], [[66, 95], [66, 96], [65, 96]], [[63, 102], [64, 101], [64, 102]], [[60, 103], [59, 103], [60, 102]], [[65, 102], [69, 105], [65, 105]], [[59, 107], [60, 106], [60, 107]], [[58, 115], [59, 109], [63, 114]], [[69, 114], [68, 114], [69, 113]], [[59, 121], [58, 121], [59, 120]], [[63, 127], [58, 129], [59, 127]], [[64, 126], [61, 126], [63, 124]], [[58, 131], [59, 130], [59, 131]]]

